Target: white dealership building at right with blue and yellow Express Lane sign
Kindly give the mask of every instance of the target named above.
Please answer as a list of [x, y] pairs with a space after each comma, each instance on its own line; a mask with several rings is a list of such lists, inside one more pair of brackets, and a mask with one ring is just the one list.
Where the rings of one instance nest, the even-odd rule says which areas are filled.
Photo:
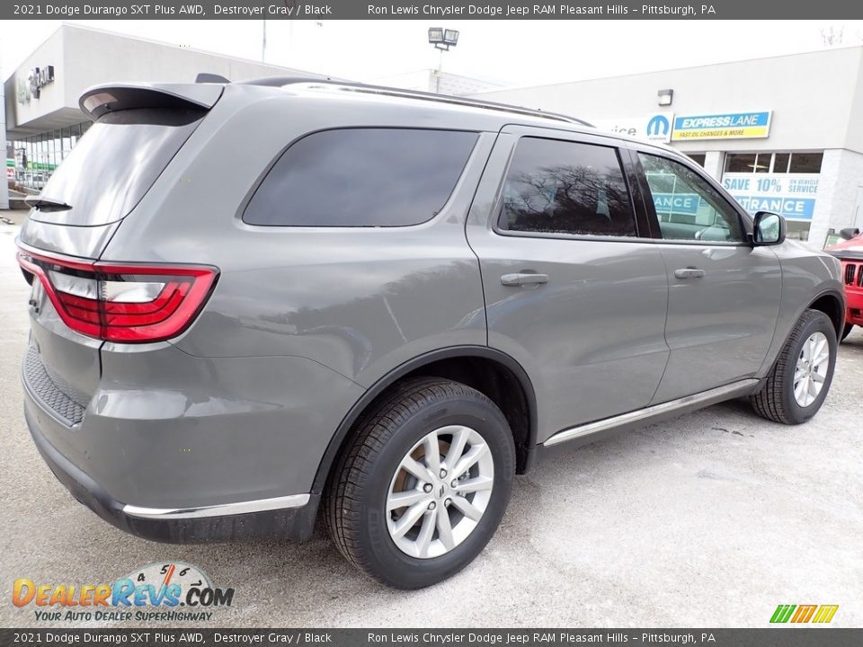
[[814, 246], [863, 228], [863, 47], [472, 96], [668, 143]]

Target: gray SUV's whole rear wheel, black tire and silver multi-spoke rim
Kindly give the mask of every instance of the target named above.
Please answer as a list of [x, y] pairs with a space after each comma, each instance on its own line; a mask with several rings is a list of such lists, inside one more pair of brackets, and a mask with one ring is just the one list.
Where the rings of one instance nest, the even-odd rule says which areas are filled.
[[406, 380], [368, 412], [325, 495], [342, 554], [398, 589], [449, 578], [482, 551], [515, 473], [503, 413], [475, 389]]

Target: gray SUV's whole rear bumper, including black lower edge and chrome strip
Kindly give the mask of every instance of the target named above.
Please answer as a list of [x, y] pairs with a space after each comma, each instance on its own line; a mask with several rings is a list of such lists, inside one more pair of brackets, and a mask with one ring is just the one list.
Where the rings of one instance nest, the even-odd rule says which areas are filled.
[[157, 541], [311, 536], [317, 467], [360, 386], [307, 359], [197, 358], [164, 342], [97, 357], [84, 393], [38, 348], [22, 369], [34, 442], [79, 501]]

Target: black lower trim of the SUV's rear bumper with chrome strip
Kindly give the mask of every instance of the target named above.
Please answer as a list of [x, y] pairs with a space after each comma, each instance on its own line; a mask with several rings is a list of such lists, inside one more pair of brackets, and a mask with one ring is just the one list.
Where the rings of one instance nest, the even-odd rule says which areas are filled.
[[316, 494], [183, 510], [140, 508], [117, 501], [49, 443], [33, 420], [31, 406], [38, 404], [32, 401], [30, 394], [27, 399], [24, 418], [33, 442], [58, 481], [78, 501], [120, 530], [170, 544], [203, 544], [265, 536], [304, 541], [312, 535], [319, 501]]

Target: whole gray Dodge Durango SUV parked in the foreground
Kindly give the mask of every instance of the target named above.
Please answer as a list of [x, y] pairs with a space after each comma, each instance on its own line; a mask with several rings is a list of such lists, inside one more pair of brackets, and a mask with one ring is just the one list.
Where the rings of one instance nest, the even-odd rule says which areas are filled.
[[303, 540], [414, 589], [513, 476], [729, 398], [821, 407], [840, 264], [670, 148], [295, 79], [117, 84], [22, 227], [24, 413], [58, 479], [166, 542]]

